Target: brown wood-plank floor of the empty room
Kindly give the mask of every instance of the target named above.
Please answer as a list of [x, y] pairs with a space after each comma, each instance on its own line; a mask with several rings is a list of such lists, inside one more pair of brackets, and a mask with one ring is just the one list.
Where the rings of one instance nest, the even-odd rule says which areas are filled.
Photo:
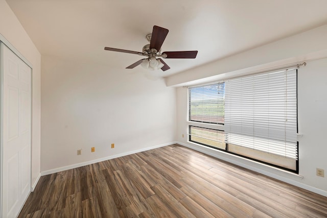
[[174, 144], [43, 176], [18, 217], [327, 217], [327, 198]]

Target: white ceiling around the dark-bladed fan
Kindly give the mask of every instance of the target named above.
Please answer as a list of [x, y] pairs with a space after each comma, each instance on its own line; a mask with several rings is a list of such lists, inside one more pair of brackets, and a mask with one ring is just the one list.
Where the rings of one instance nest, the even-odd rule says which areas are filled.
[[[196, 59], [167, 59], [171, 74], [327, 23], [326, 0], [7, 0], [42, 55], [126, 66], [154, 25], [169, 29], [162, 51], [198, 50]], [[200, 73], [200, 72], [199, 72]]]

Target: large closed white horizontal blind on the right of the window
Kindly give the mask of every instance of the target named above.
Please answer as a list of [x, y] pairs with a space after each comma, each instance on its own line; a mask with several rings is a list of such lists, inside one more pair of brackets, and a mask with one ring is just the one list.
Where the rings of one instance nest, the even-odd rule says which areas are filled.
[[226, 143], [297, 160], [296, 70], [225, 81]]

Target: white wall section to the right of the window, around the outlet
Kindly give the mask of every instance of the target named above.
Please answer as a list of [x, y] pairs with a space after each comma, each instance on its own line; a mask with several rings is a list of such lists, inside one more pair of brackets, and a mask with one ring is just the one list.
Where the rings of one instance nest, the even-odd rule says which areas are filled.
[[[298, 71], [299, 173], [303, 183], [327, 192], [327, 58]], [[316, 167], [325, 177], [316, 176]]]

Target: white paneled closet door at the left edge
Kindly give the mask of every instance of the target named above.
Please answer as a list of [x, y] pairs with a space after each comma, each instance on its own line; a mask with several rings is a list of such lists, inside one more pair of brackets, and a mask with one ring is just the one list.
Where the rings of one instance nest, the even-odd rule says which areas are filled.
[[31, 68], [3, 46], [3, 217], [16, 217], [31, 187]]

